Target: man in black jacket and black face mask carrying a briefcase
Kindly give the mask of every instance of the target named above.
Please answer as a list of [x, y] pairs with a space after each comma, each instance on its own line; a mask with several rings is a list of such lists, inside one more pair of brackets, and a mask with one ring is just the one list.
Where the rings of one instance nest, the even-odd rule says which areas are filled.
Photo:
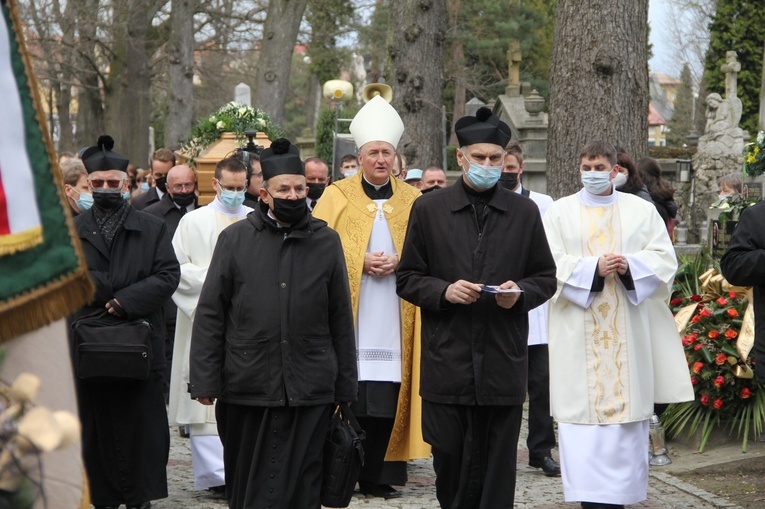
[[217, 401], [230, 508], [319, 509], [332, 405], [357, 391], [345, 258], [308, 212], [298, 148], [274, 140], [261, 166], [258, 208], [220, 234], [207, 270], [188, 387], [203, 409]]

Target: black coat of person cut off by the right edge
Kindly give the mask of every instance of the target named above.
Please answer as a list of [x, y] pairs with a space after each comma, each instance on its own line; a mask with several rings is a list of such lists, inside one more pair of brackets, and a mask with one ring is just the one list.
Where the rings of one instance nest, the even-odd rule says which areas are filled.
[[741, 214], [720, 269], [731, 284], [754, 287], [755, 371], [757, 380], [765, 383], [765, 202]]

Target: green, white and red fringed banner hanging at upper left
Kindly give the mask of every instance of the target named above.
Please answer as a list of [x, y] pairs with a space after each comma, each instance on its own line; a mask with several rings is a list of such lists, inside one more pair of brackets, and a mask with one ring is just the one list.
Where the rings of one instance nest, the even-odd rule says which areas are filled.
[[0, 342], [86, 304], [93, 288], [62, 190], [16, 0], [0, 0]]

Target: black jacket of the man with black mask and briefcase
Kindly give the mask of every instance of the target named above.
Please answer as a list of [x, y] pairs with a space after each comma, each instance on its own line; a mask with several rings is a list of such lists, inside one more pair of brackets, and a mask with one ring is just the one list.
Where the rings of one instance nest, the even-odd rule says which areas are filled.
[[260, 207], [226, 228], [199, 298], [190, 369], [192, 398], [355, 401], [356, 339], [337, 233], [310, 215], [278, 228]]

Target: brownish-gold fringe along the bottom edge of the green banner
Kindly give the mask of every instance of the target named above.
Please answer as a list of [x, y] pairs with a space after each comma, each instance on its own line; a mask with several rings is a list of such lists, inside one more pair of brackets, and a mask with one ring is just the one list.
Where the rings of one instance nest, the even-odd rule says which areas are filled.
[[0, 343], [59, 320], [90, 302], [93, 283], [77, 272], [0, 306]]

